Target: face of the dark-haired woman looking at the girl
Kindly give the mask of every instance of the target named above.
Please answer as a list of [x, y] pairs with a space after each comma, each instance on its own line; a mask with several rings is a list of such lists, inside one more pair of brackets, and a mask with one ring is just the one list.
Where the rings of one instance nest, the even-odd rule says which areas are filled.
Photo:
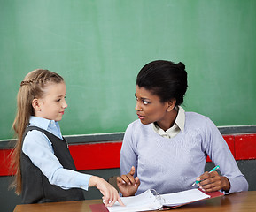
[[161, 123], [167, 120], [168, 102], [160, 102], [158, 95], [150, 90], [136, 86], [136, 114], [142, 124]]

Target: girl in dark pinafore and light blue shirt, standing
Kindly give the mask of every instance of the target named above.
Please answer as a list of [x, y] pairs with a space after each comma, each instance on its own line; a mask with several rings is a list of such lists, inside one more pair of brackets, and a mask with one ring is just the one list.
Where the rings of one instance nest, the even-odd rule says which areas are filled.
[[105, 206], [119, 201], [118, 192], [103, 178], [77, 172], [58, 121], [66, 110], [66, 84], [55, 72], [35, 70], [20, 83], [13, 129], [17, 170], [14, 186], [23, 203], [84, 200], [81, 188], [96, 186]]

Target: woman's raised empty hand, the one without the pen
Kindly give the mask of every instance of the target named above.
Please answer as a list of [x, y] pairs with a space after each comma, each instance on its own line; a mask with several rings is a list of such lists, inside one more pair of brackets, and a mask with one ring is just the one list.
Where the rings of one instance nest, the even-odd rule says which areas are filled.
[[117, 186], [124, 197], [134, 196], [141, 184], [138, 177], [134, 178], [135, 171], [135, 167], [132, 166], [127, 175], [122, 175], [121, 177], [116, 178]]

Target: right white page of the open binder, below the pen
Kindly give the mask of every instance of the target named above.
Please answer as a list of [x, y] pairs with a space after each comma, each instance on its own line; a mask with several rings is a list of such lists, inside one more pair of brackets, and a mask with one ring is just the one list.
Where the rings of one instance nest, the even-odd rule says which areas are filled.
[[206, 198], [210, 198], [210, 195], [202, 193], [197, 188], [190, 189], [179, 193], [167, 193], [162, 194], [161, 197], [164, 199], [163, 205], [165, 206], [176, 206], [185, 203], [200, 201]]

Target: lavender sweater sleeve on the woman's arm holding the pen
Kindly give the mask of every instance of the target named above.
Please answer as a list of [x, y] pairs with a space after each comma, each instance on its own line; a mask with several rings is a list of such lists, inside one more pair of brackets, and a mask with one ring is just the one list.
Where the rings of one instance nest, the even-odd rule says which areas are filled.
[[209, 118], [206, 118], [206, 138], [204, 146], [206, 154], [209, 155], [213, 163], [220, 166], [221, 175], [229, 179], [229, 193], [247, 191], [247, 180], [239, 170], [227, 142], [223, 139], [220, 131]]

